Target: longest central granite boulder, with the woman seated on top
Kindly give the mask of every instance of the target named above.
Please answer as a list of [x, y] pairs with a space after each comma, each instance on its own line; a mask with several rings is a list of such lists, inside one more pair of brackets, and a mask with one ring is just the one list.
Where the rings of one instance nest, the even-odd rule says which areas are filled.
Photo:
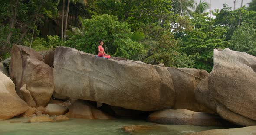
[[174, 105], [167, 68], [139, 61], [104, 59], [59, 46], [54, 55], [55, 92], [126, 109], [151, 111]]

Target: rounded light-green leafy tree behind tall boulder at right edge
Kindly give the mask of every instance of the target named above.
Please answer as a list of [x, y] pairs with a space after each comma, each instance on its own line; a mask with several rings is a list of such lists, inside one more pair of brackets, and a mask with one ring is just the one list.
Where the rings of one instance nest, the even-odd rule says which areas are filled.
[[256, 28], [249, 23], [238, 26], [231, 37], [230, 49], [256, 56]]

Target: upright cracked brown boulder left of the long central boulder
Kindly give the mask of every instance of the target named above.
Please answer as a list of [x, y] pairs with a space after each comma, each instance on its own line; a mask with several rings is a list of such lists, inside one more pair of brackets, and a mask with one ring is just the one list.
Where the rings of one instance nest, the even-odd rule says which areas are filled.
[[53, 70], [43, 61], [42, 56], [33, 49], [13, 45], [9, 71], [17, 94], [23, 98], [20, 88], [26, 84], [36, 106], [44, 107], [53, 94], [54, 83]]

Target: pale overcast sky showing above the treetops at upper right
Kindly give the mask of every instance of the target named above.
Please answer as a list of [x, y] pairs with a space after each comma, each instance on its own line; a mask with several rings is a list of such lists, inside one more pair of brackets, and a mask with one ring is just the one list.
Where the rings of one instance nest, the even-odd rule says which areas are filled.
[[[200, 0], [194, 0], [194, 1], [199, 3]], [[202, 1], [210, 3], [210, 0], [202, 0]], [[211, 0], [211, 9], [212, 10], [221, 9], [223, 7], [223, 4], [226, 3], [229, 5], [229, 7], [232, 7], [232, 10], [233, 10], [234, 1], [235, 0]], [[236, 8], [240, 8], [242, 0], [236, 0], [236, 1], [237, 1]], [[247, 3], [251, 2], [251, 1], [252, 0], [243, 0], [243, 5], [246, 5]], [[248, 6], [248, 5], [246, 5], [246, 6]]]

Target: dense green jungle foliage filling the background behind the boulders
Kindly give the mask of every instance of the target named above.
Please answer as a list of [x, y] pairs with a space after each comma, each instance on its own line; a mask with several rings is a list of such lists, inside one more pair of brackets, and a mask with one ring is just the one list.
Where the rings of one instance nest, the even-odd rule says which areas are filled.
[[[68, 22], [74, 26], [69, 26], [66, 42], [58, 37], [62, 1], [19, 0], [11, 29], [15, 2], [0, 3], [1, 58], [10, 56], [13, 43], [30, 47], [31, 39], [31, 46], [37, 51], [66, 45], [95, 55], [98, 41], [103, 40], [105, 52], [112, 56], [208, 72], [213, 67], [214, 48], [230, 47], [256, 56], [256, 0], [248, 8], [235, 11], [224, 4], [221, 10], [213, 12], [216, 18], [211, 21], [208, 13], [203, 13], [208, 4], [202, 0], [195, 3], [195, 12], [191, 12], [194, 0], [71, 0]], [[240, 13], [241, 26], [238, 25]], [[41, 33], [39, 29], [47, 26], [44, 22], [56, 26], [49, 33], [54, 31], [58, 35]]]

